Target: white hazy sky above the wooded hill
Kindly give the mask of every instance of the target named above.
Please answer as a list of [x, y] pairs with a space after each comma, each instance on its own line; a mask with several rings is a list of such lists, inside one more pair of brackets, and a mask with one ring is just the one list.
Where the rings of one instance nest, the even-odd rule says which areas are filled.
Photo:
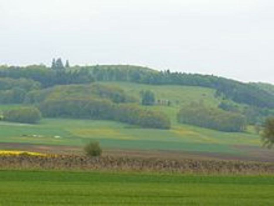
[[135, 64], [274, 84], [273, 0], [0, 0], [0, 64]]

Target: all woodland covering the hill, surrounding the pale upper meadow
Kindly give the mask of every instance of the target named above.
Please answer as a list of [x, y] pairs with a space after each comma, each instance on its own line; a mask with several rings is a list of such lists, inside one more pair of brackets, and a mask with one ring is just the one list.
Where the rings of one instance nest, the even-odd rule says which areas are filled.
[[[140, 107], [140, 104], [148, 107], [155, 104], [153, 92], [140, 91], [137, 98], [122, 88], [100, 84], [102, 81], [214, 89], [220, 102], [218, 108], [193, 104], [195, 107], [181, 108], [177, 116], [181, 123], [211, 129], [243, 131], [246, 124], [262, 124], [274, 114], [274, 89], [269, 84], [130, 65], [71, 67], [68, 61], [64, 65], [60, 58], [53, 59], [51, 67], [0, 66], [0, 104], [35, 106], [44, 117], [111, 119], [141, 127], [170, 128], [164, 113]], [[169, 100], [166, 105], [170, 106]]]

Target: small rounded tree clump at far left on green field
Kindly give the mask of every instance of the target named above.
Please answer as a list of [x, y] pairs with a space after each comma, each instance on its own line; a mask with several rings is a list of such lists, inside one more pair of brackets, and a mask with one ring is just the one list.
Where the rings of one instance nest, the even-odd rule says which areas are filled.
[[5, 111], [4, 121], [21, 123], [38, 123], [41, 119], [41, 112], [36, 107], [22, 107]]

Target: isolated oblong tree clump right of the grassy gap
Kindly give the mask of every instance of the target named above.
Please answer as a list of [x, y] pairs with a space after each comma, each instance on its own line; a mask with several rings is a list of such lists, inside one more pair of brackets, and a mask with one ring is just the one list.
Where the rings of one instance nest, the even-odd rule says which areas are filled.
[[217, 108], [192, 104], [182, 108], [178, 113], [178, 121], [225, 132], [242, 132], [246, 127], [246, 119], [235, 112], [226, 112]]

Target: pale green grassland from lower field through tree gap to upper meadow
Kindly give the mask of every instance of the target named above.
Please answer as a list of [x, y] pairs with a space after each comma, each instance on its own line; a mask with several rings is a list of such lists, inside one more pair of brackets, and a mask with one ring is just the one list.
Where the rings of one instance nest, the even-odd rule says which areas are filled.
[[[153, 86], [126, 82], [101, 82], [122, 87], [139, 96], [141, 90], [155, 92], [157, 99], [169, 99], [171, 107], [154, 106], [150, 109], [165, 112], [172, 120], [172, 129], [140, 129], [112, 121], [43, 119], [41, 124], [0, 122], [0, 142], [30, 142], [36, 144], [83, 145], [90, 139], [100, 139], [105, 148], [184, 150], [243, 154], [233, 145], [260, 146], [260, 137], [252, 133], [225, 133], [210, 129], [181, 125], [176, 122], [179, 108], [191, 102], [203, 101], [216, 106], [214, 90], [201, 87]], [[16, 105], [13, 105], [16, 107]], [[1, 109], [9, 106], [0, 107]], [[41, 135], [42, 137], [33, 137]], [[27, 136], [26, 136], [27, 135]], [[61, 138], [54, 138], [61, 136]]]

